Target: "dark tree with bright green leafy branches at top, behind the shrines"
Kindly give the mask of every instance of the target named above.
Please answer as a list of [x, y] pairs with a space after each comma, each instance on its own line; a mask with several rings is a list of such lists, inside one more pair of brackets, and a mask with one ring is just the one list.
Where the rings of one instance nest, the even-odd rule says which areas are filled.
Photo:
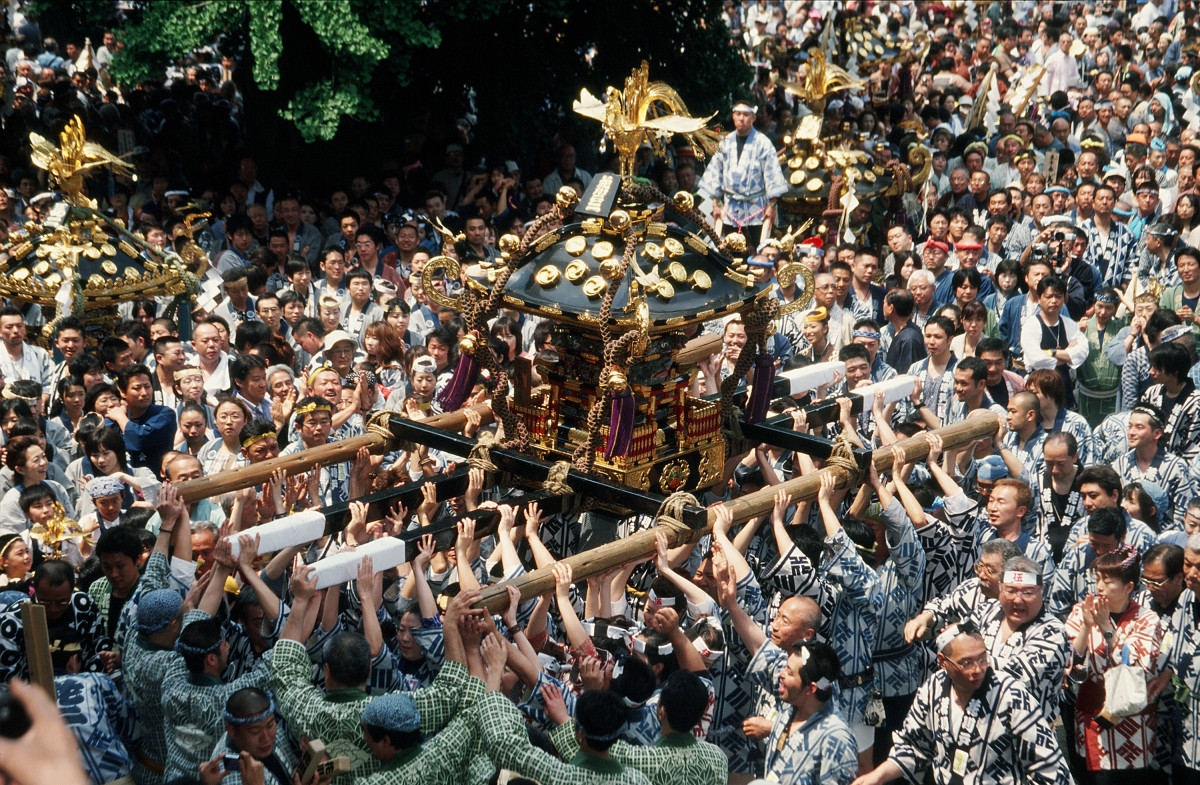
[[[38, 0], [47, 14], [92, 16], [104, 1]], [[599, 138], [571, 101], [582, 86], [600, 95], [620, 84], [643, 59], [694, 113], [724, 109], [750, 78], [712, 0], [143, 1], [121, 37], [112, 70], [126, 85], [217, 42], [241, 59], [247, 107], [270, 107], [305, 143], [378, 122], [415, 138], [451, 136], [473, 90], [480, 138], [545, 149], [564, 132]]]

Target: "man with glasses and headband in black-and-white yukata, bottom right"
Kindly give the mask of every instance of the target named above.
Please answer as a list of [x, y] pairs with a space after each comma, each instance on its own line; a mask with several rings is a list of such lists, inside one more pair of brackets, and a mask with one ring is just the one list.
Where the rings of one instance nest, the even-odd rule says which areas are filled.
[[1025, 685], [990, 665], [984, 637], [971, 622], [937, 636], [941, 670], [917, 691], [895, 745], [854, 785], [904, 777], [937, 785], [1073, 781], [1054, 727]]

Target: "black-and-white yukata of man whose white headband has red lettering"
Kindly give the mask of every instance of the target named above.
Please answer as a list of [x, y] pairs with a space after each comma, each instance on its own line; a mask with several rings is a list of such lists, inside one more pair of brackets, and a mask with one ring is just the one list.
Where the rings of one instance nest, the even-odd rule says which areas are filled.
[[1070, 664], [1070, 640], [1062, 622], [1046, 613], [1043, 606], [1038, 616], [1014, 630], [1002, 643], [1000, 633], [1004, 609], [998, 601], [982, 604], [972, 621], [983, 634], [991, 666], [1018, 679], [1033, 696], [1033, 702], [1042, 707], [1046, 723], [1052, 725], [1058, 715], [1062, 677]]

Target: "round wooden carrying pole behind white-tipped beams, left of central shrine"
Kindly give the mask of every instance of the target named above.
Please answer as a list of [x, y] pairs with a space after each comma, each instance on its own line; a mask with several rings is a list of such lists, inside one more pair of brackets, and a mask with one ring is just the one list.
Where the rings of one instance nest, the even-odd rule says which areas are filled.
[[[479, 412], [481, 426], [488, 425], [494, 420], [490, 403], [476, 403], [464, 408]], [[463, 414], [463, 411], [458, 409], [457, 412], [437, 414], [427, 420], [421, 420], [421, 423], [448, 431], [461, 431], [467, 424], [467, 417]], [[212, 477], [202, 477], [196, 480], [180, 483], [179, 493], [184, 497], [185, 502], [191, 504], [192, 502], [212, 496], [240, 491], [251, 485], [262, 485], [271, 479], [271, 474], [280, 468], [288, 474], [299, 474], [307, 472], [314, 466], [329, 466], [330, 463], [353, 461], [355, 454], [364, 447], [374, 454], [385, 453], [389, 449], [389, 439], [384, 438], [382, 433], [367, 431], [362, 436], [355, 436], [341, 442], [330, 442], [329, 444], [301, 450], [293, 455], [281, 455], [250, 466], [220, 472]]]

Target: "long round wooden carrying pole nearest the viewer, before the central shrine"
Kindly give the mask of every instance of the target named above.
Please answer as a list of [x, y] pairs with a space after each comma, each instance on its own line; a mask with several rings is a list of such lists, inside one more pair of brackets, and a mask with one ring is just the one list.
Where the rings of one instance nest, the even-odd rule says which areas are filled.
[[[997, 427], [998, 421], [996, 414], [991, 412], [983, 412], [961, 423], [955, 423], [954, 425], [938, 429], [936, 433], [942, 437], [942, 443], [946, 450], [954, 450], [970, 444], [974, 439], [994, 437]], [[919, 461], [929, 455], [929, 443], [923, 436], [902, 439], [899, 442], [899, 447], [904, 449], [906, 461]], [[875, 450], [871, 460], [875, 463], [875, 467], [880, 471], [890, 468], [892, 448], [887, 447]], [[746, 493], [745, 496], [733, 499], [732, 502], [726, 502], [725, 507], [733, 510], [733, 522], [740, 523], [758, 515], [770, 513], [770, 509], [775, 503], [775, 493], [780, 490], [780, 487], [791, 493], [793, 501], [815, 499], [817, 490], [821, 487], [821, 473], [823, 472], [834, 473], [838, 478], [835, 487], [846, 487], [850, 483], [850, 474], [845, 469], [830, 467], [815, 474], [805, 474], [804, 477], [792, 478], [781, 486], [770, 485], [760, 491]], [[695, 541], [706, 533], [710, 532], [715, 520], [716, 511], [709, 508], [708, 523], [702, 529], [679, 529], [672, 526], [660, 525], [648, 529], [642, 529], [641, 532], [636, 532], [613, 543], [594, 547], [590, 551], [576, 553], [575, 556], [563, 561], [571, 565], [574, 580], [582, 581], [590, 575], [605, 573], [622, 564], [628, 564], [634, 559], [644, 558], [646, 556], [654, 553], [658, 550], [656, 534], [659, 531], [665, 533], [670, 545], [676, 547], [685, 541]], [[503, 611], [508, 606], [506, 586], [509, 583], [512, 583], [521, 589], [522, 600], [528, 600], [530, 598], [541, 597], [542, 594], [553, 592], [554, 574], [551, 568], [544, 567], [514, 579], [512, 581], [488, 586], [482, 591], [480, 605], [496, 613]]]

